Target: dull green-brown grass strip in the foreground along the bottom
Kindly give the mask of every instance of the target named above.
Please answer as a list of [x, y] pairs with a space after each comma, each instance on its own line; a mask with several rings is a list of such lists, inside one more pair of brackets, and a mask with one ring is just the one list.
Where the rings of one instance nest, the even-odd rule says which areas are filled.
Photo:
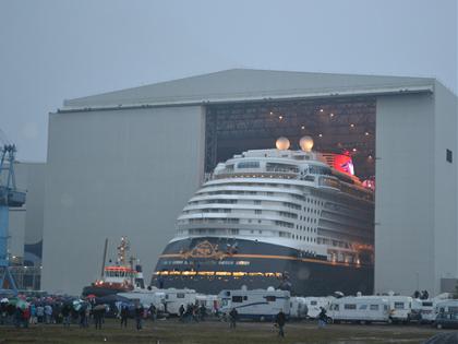
[[136, 331], [133, 320], [128, 329], [120, 329], [114, 320], [107, 320], [103, 330], [80, 329], [72, 325], [33, 325], [29, 329], [0, 327], [0, 343], [153, 343], [153, 344], [417, 344], [438, 331], [431, 327], [417, 325], [353, 325], [333, 324], [318, 329], [314, 322], [289, 322], [286, 325], [286, 337], [277, 336], [272, 323], [238, 323], [230, 330], [228, 323], [200, 322], [180, 323], [177, 320], [146, 321], [144, 329]]

